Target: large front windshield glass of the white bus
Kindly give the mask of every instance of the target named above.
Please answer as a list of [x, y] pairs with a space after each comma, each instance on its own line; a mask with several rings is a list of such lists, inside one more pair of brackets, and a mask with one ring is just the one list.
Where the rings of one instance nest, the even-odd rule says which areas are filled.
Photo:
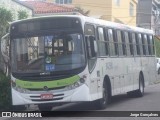
[[85, 65], [80, 33], [16, 38], [12, 49], [12, 70], [16, 73], [69, 71]]

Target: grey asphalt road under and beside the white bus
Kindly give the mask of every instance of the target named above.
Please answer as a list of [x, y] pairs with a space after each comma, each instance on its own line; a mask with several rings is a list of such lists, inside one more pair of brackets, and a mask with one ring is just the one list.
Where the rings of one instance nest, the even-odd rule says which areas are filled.
[[[98, 111], [94, 104], [79, 103], [79, 104], [67, 104], [60, 107], [55, 107], [53, 111]], [[129, 98], [126, 94], [114, 96], [111, 104], [105, 110], [102, 111], [160, 111], [160, 83], [147, 86], [145, 88], [145, 94], [141, 98]], [[80, 113], [81, 114], [81, 113]], [[20, 118], [0, 118], [0, 120], [21, 120]], [[30, 118], [31, 120], [160, 120], [160, 116], [157, 118], [118, 118], [118, 117], [58, 117], [58, 118]], [[27, 120], [27, 118], [23, 118]]]

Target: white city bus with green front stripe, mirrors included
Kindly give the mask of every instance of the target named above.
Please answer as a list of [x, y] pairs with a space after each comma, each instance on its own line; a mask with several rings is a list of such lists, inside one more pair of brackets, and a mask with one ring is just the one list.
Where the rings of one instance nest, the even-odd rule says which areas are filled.
[[[142, 97], [156, 79], [153, 31], [79, 15], [13, 22], [2, 39], [11, 66], [12, 104], [94, 102], [111, 96]], [[7, 43], [9, 51], [7, 52]]]

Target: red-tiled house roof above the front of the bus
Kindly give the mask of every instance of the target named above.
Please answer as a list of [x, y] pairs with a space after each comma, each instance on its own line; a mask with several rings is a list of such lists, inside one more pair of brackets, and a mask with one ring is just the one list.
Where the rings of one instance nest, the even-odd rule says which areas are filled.
[[33, 16], [78, 14], [72, 6], [59, 5], [45, 1], [23, 1], [23, 3], [33, 8]]

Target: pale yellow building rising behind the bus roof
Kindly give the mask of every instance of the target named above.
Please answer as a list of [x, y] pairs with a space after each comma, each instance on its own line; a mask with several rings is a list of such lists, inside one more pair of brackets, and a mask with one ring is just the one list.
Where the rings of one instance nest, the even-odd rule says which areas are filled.
[[89, 16], [136, 26], [137, 0], [46, 0], [56, 4], [73, 5]]

